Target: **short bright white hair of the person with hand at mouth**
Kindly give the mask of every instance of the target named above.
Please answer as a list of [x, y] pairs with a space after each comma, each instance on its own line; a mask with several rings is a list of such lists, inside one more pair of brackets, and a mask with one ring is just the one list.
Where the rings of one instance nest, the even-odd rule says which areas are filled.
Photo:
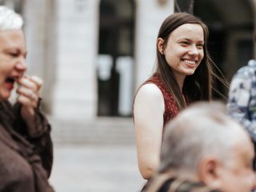
[[6, 6], [0, 6], [0, 30], [21, 30], [22, 17]]

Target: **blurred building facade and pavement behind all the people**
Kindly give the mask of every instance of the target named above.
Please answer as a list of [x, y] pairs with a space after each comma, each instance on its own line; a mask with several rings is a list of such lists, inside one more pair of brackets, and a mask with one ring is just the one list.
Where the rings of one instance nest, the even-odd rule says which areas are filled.
[[[256, 0], [0, 0], [25, 19], [28, 74], [44, 80], [60, 192], [138, 191], [132, 103], [152, 73], [159, 26], [190, 11], [230, 81], [254, 58]], [[217, 82], [218, 83], [218, 82]], [[226, 90], [219, 86], [222, 94]], [[216, 96], [218, 97], [218, 96]]]

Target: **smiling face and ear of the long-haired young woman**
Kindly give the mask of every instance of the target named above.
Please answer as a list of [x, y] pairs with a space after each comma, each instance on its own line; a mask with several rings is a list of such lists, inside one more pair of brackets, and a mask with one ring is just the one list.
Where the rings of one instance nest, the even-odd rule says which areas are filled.
[[198, 24], [178, 26], [164, 42], [158, 38], [158, 50], [165, 55], [166, 62], [176, 78], [194, 74], [204, 56], [204, 33]]

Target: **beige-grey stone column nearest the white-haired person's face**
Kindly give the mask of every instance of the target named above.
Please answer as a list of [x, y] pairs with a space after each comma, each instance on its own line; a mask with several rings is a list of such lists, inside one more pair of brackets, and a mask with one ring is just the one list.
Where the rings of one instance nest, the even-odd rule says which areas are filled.
[[54, 1], [24, 1], [23, 18], [25, 20], [27, 74], [42, 78], [43, 108], [51, 110], [52, 88], [55, 72], [54, 55]]

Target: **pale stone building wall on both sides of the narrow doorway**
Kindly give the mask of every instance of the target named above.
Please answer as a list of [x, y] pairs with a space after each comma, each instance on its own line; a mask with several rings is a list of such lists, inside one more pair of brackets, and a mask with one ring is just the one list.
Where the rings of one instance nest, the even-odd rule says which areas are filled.
[[[97, 118], [99, 3], [24, 1], [28, 73], [44, 80], [45, 109], [54, 118]], [[135, 9], [134, 92], [151, 74], [158, 29], [174, 1], [136, 0]]]

